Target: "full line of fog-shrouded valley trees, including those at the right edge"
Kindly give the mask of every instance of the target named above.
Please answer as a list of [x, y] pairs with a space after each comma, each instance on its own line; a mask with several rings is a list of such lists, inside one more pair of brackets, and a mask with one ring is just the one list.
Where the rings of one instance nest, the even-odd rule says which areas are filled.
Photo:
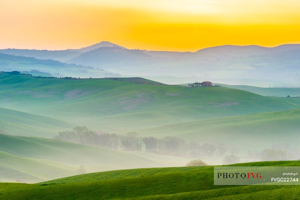
[[[93, 145], [116, 151], [147, 151], [155, 154], [190, 156], [201, 158], [203, 156], [224, 157], [224, 164], [237, 163], [238, 148], [224, 143], [185, 142], [183, 138], [166, 136], [156, 138], [153, 136], [141, 137], [136, 132], [125, 135], [115, 133], [95, 133], [87, 127], [77, 126], [70, 131], [59, 132], [55, 139], [73, 142], [82, 145]], [[225, 153], [229, 152], [228, 155]], [[265, 149], [261, 152], [248, 152], [248, 159], [257, 160], [297, 160], [299, 151], [288, 146]]]

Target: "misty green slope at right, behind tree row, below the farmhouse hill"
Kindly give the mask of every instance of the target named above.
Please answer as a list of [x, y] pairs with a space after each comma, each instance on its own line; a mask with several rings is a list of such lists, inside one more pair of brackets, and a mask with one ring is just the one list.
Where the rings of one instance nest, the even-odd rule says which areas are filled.
[[187, 141], [224, 142], [248, 151], [255, 144], [256, 151], [276, 143], [297, 146], [300, 142], [300, 109], [265, 112], [209, 120], [169, 124], [137, 130], [141, 135], [155, 137], [179, 136]]

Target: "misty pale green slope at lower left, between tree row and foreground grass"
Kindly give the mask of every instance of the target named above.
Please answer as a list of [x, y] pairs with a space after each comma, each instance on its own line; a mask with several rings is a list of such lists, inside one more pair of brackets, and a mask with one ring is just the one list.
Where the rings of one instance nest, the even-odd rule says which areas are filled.
[[0, 134], [0, 180], [38, 182], [75, 175], [80, 165], [87, 172], [164, 164], [140, 156], [54, 139]]

